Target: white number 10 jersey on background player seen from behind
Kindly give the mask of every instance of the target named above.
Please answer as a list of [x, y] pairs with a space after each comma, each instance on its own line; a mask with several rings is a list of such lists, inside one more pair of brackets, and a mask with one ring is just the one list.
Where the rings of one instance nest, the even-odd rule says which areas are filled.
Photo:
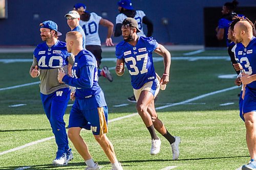
[[80, 20], [79, 25], [86, 34], [86, 45], [101, 45], [99, 38], [99, 21], [102, 18], [96, 13], [90, 13], [88, 21]]

